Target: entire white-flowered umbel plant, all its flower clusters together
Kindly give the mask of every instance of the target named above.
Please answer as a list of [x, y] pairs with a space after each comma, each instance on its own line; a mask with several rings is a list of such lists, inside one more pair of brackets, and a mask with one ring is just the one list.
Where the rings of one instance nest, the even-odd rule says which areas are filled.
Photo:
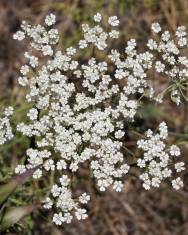
[[[170, 81], [169, 90], [179, 104], [185, 96], [188, 78], [188, 59], [179, 55], [179, 47], [187, 47], [183, 27], [176, 32], [176, 41], [165, 31], [161, 41], [150, 39], [148, 51], [138, 52], [136, 41], [129, 40], [120, 53], [109, 44], [119, 37], [119, 19], [111, 16], [103, 27], [102, 16], [94, 16], [94, 25], [82, 25], [83, 37], [75, 47], [59, 49], [59, 33], [53, 28], [56, 17], [46, 16], [45, 26], [23, 22], [14, 34], [19, 41], [27, 38], [30, 47], [25, 52], [27, 63], [20, 69], [19, 84], [27, 89], [26, 99], [33, 107], [28, 111], [28, 122], [19, 123], [17, 131], [34, 138], [34, 146], [26, 151], [27, 161], [18, 165], [17, 174], [38, 167], [33, 178], [53, 175], [55, 183], [43, 201], [46, 209], [53, 209], [53, 222], [70, 223], [73, 217], [87, 218], [84, 204], [90, 200], [87, 192], [75, 190], [80, 169], [87, 168], [100, 191], [112, 187], [117, 192], [129, 177], [131, 164], [124, 147], [126, 126], [134, 127], [134, 118], [143, 97], [154, 97], [149, 71], [163, 73]], [[159, 33], [158, 23], [152, 25]], [[158, 42], [158, 41], [159, 42]], [[90, 50], [87, 61], [79, 53]], [[100, 51], [100, 58], [97, 57]], [[101, 59], [102, 58], [102, 59]], [[6, 110], [0, 129], [4, 144], [12, 138]], [[165, 179], [179, 189], [183, 182], [176, 174], [185, 169], [177, 162], [180, 150], [165, 143], [168, 137], [164, 122], [159, 133], [148, 130], [138, 141], [143, 154], [136, 161], [143, 187], [159, 187]], [[174, 163], [174, 160], [176, 161]], [[135, 167], [135, 166], [134, 166]], [[76, 184], [79, 188], [79, 183]]]

